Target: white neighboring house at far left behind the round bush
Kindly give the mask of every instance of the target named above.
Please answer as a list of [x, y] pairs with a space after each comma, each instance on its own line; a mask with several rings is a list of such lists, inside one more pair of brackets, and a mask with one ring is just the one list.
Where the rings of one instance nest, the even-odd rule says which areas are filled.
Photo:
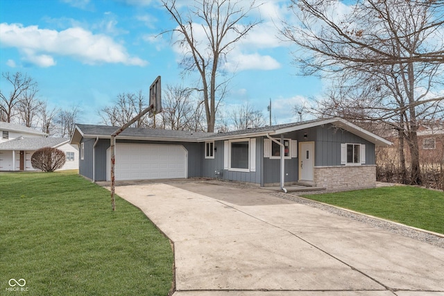
[[47, 137], [44, 132], [6, 122], [0, 122], [0, 134], [0, 171], [37, 171], [31, 165], [31, 157], [44, 147], [65, 152], [67, 161], [60, 170], [78, 169], [78, 148], [69, 139]]

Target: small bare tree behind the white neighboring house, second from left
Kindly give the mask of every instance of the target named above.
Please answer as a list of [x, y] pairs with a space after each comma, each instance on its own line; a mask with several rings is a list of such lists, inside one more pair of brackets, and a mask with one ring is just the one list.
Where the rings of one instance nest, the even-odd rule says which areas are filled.
[[31, 128], [36, 124], [36, 119], [42, 110], [42, 101], [36, 97], [37, 85], [31, 85], [22, 93], [22, 99], [17, 104], [17, 114], [19, 116], [19, 123]]

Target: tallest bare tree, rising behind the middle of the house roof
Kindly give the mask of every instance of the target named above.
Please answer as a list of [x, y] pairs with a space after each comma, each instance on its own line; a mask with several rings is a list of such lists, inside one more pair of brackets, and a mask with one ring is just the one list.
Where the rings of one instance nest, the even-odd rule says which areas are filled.
[[[219, 81], [221, 62], [234, 44], [259, 21], [247, 21], [248, 13], [257, 8], [255, 1], [234, 0], [194, 0], [187, 11], [179, 11], [176, 0], [162, 0], [164, 8], [178, 24], [171, 31], [180, 39], [176, 42], [183, 51], [181, 66], [184, 73], [198, 71], [200, 78], [199, 92], [203, 93], [207, 131], [214, 131], [216, 110], [226, 92], [228, 80]], [[167, 33], [164, 32], [164, 33]], [[202, 34], [203, 33], [203, 34]], [[205, 37], [202, 40], [201, 35]]]

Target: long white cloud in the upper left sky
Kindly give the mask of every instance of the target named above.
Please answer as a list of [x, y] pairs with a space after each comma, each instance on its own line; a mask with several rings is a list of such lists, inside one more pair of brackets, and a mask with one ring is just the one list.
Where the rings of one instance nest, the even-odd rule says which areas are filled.
[[124, 46], [102, 34], [93, 34], [83, 28], [68, 28], [64, 31], [40, 29], [22, 24], [0, 24], [0, 43], [15, 47], [23, 59], [40, 67], [49, 67], [56, 62], [53, 55], [75, 58], [85, 64], [122, 63], [145, 66], [148, 62], [130, 56]]

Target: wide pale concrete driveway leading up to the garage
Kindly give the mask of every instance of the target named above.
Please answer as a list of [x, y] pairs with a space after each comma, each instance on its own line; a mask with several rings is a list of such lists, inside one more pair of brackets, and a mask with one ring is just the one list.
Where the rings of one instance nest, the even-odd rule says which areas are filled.
[[174, 296], [444, 295], [443, 248], [263, 189], [180, 182], [116, 192], [173, 241]]

